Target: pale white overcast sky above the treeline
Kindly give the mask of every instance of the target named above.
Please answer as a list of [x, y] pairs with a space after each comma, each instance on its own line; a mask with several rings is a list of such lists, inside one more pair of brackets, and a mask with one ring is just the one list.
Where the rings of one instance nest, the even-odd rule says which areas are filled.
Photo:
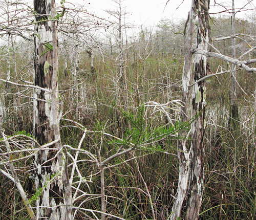
[[[95, 11], [99, 16], [108, 16], [105, 14], [106, 9], [115, 9], [116, 4], [112, 0], [75, 0], [79, 4], [84, 4], [88, 10]], [[256, 7], [256, 0], [251, 1], [247, 8]], [[190, 10], [191, 0], [124, 0], [122, 5], [125, 6], [127, 17], [132, 24], [154, 26], [157, 25], [161, 18], [169, 19], [186, 19]], [[214, 6], [219, 3], [226, 7], [232, 6], [232, 0], [211, 0], [210, 12], [224, 10], [222, 7]], [[241, 8], [248, 3], [248, 0], [235, 0], [235, 8]], [[166, 6], [166, 7], [165, 7]], [[247, 12], [248, 13], [248, 12]], [[228, 14], [228, 13], [226, 13]], [[239, 13], [238, 17], [245, 16], [245, 13]]]

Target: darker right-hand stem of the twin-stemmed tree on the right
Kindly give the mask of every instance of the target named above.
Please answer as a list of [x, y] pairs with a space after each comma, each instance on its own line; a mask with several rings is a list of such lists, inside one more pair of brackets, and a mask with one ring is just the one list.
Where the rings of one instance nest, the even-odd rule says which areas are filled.
[[[196, 1], [195, 1], [196, 2]], [[207, 51], [209, 0], [196, 2], [198, 10], [197, 48]], [[194, 82], [206, 76], [206, 56], [196, 54]], [[193, 123], [191, 126], [192, 145], [190, 153], [188, 204], [185, 219], [198, 219], [203, 195], [204, 181], [204, 117], [205, 117], [205, 80], [192, 87]]]

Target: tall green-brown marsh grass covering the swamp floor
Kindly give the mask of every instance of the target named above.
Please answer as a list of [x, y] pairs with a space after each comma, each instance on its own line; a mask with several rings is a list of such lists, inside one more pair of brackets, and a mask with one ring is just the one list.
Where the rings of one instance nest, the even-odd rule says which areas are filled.
[[[181, 76], [183, 58], [173, 60], [173, 57], [152, 54], [146, 60], [146, 79], [143, 79], [143, 62], [139, 59], [132, 62], [127, 60], [127, 106], [116, 106], [115, 100], [115, 71], [114, 59], [95, 56], [95, 74], [90, 73], [90, 63], [86, 54], [81, 53], [79, 91], [72, 87], [71, 72], [63, 72], [63, 60], [60, 59], [59, 90], [65, 104], [63, 117], [75, 120], [74, 94], [79, 96], [78, 121], [90, 130], [103, 129], [105, 132], [118, 135], [119, 129], [130, 129], [128, 123], [118, 124], [115, 121], [115, 109], [126, 109], [136, 115], [139, 105], [146, 101], [165, 103], [169, 98], [180, 99]], [[212, 72], [223, 64], [211, 61]], [[22, 66], [22, 64], [20, 64]], [[31, 76], [30, 76], [31, 77]], [[27, 77], [29, 78], [29, 77]], [[247, 95], [238, 92], [239, 112], [241, 115], [239, 129], [229, 130], [229, 75], [210, 78], [207, 81], [207, 112], [205, 128], [205, 186], [201, 206], [201, 219], [254, 219], [256, 212], [256, 174], [255, 174], [255, 113], [252, 108], [254, 79], [249, 73], [239, 74], [239, 83]], [[144, 82], [147, 83], [145, 86]], [[81, 96], [81, 90], [86, 94]], [[146, 95], [145, 95], [146, 94]], [[28, 93], [32, 96], [31, 92]], [[168, 95], [168, 96], [167, 96]], [[144, 100], [143, 100], [144, 98]], [[32, 132], [32, 103], [23, 99], [24, 129]], [[125, 108], [124, 108], [125, 107]], [[171, 107], [171, 106], [170, 106]], [[11, 108], [10, 108], [11, 109]], [[31, 114], [28, 114], [31, 113]], [[172, 113], [171, 111], [169, 113]], [[125, 117], [122, 115], [122, 117]], [[178, 115], [172, 115], [178, 120]], [[160, 112], [145, 109], [144, 119], [147, 120], [148, 132], [158, 126], [167, 126], [167, 120]], [[3, 127], [12, 134], [15, 127], [15, 111], [8, 114]], [[72, 127], [72, 124], [61, 122], [62, 143], [77, 146], [82, 131]], [[122, 126], [122, 127], [120, 127]], [[125, 135], [125, 132], [122, 133]], [[122, 137], [120, 137], [122, 138]], [[175, 157], [177, 140], [166, 138], [156, 146], [148, 149], [137, 149], [111, 161], [109, 165], [118, 166], [105, 169], [106, 210], [108, 213], [125, 219], [152, 219], [154, 206], [157, 219], [166, 220], [171, 211], [174, 196], [178, 186], [178, 161]], [[159, 145], [161, 150], [150, 147]], [[101, 156], [112, 155], [119, 145], [101, 134], [88, 134], [82, 148], [98, 154], [101, 146]], [[2, 148], [3, 146], [1, 146]], [[167, 152], [167, 153], [166, 153]], [[136, 158], [134, 160], [129, 160]], [[75, 202], [82, 208], [101, 209], [100, 202], [100, 174], [95, 164], [87, 161], [86, 156], [80, 156], [79, 168], [83, 177], [90, 177], [91, 181], [83, 183], [82, 190], [88, 195]], [[125, 163], [123, 161], [129, 160]], [[18, 167], [25, 167], [18, 164]], [[26, 171], [26, 168], [23, 169]], [[141, 173], [141, 175], [139, 174]], [[23, 178], [24, 186], [29, 185]], [[0, 219], [27, 219], [24, 207], [14, 185], [1, 175], [0, 187]], [[33, 183], [32, 183], [33, 185]], [[26, 187], [25, 187], [26, 188]], [[33, 187], [32, 187], [33, 188]], [[27, 189], [29, 196], [34, 193]], [[150, 196], [149, 196], [150, 194]], [[99, 217], [99, 216], [98, 216]], [[84, 215], [77, 212], [76, 219], [94, 219], [91, 213]], [[107, 219], [111, 219], [108, 218]]]

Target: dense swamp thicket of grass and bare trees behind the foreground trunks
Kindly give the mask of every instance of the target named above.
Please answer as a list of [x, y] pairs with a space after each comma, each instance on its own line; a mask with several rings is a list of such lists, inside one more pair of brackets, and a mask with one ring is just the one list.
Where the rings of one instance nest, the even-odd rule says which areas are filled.
[[[110, 24], [106, 28], [98, 24], [106, 31], [103, 31], [105, 36], [96, 36], [89, 30], [83, 32], [89, 26], [79, 22], [74, 21], [77, 26], [73, 24], [69, 30], [63, 26], [59, 32], [58, 90], [59, 99], [63, 101], [62, 118], [66, 119], [60, 124], [62, 143], [73, 147], [79, 145], [83, 127], [78, 129], [74, 122], [92, 131], [87, 133], [81, 148], [93, 155], [100, 153], [101, 160], [111, 156], [121, 145], [127, 148], [125, 143], [103, 133], [129, 138], [134, 144], [136, 141], [145, 143], [144, 147], [115, 158], [109, 164], [119, 165], [105, 169], [105, 210], [124, 219], [152, 219], [153, 203], [156, 219], [164, 220], [170, 214], [178, 185], [177, 140], [185, 138], [176, 134], [184, 127], [189, 131], [191, 123], [179, 123], [179, 103], [173, 102], [181, 99], [185, 21], [163, 19], [156, 29], [141, 27], [134, 36], [127, 30], [122, 41], [125, 74], [122, 80], [125, 83], [118, 101], [118, 27]], [[256, 46], [254, 25], [255, 14], [249, 15], [248, 19], [236, 20], [236, 32], [240, 34], [237, 37], [237, 57]], [[230, 18], [212, 17], [211, 30], [212, 39], [229, 35]], [[15, 35], [13, 47], [10, 42], [8, 34], [3, 35], [0, 78], [8, 79], [9, 71], [10, 81], [19, 84], [33, 82], [33, 42]], [[222, 54], [231, 55], [231, 39], [213, 40], [212, 43]], [[255, 52], [245, 56], [256, 58]], [[227, 62], [211, 58], [208, 74], [225, 72], [229, 68]], [[253, 219], [256, 214], [254, 73], [238, 69], [237, 81], [239, 126], [233, 132], [229, 129], [230, 73], [206, 80], [206, 170], [200, 219]], [[17, 91], [16, 85], [6, 82], [1, 82], [0, 89], [1, 131], [4, 130], [7, 136], [23, 130], [23, 134], [32, 135], [33, 90], [19, 87]], [[158, 138], [161, 135], [164, 138]], [[17, 138], [10, 144], [14, 150], [26, 148], [31, 143]], [[4, 148], [1, 145], [1, 151]], [[15, 159], [22, 156], [20, 152]], [[1, 155], [1, 160], [4, 161], [4, 157]], [[88, 182], [80, 187], [88, 195], [76, 200], [75, 205], [101, 210], [98, 167], [86, 156], [78, 160], [84, 160], [79, 163], [79, 168]], [[6, 164], [0, 164], [4, 169]], [[33, 158], [14, 164], [33, 205], [36, 192], [34, 181], [29, 177]], [[0, 219], [28, 219], [15, 185], [2, 174], [0, 184]], [[75, 219], [95, 217], [90, 212], [84, 216], [78, 211]]]

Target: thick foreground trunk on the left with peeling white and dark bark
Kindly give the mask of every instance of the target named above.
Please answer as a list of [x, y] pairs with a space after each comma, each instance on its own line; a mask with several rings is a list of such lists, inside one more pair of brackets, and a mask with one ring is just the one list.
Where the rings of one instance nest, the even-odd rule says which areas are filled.
[[59, 134], [57, 21], [51, 20], [55, 16], [54, 0], [34, 0], [34, 9], [34, 84], [50, 91], [34, 91], [34, 136], [41, 145], [58, 140], [52, 146], [56, 150], [40, 150], [35, 156], [37, 219], [71, 220], [71, 186]]

